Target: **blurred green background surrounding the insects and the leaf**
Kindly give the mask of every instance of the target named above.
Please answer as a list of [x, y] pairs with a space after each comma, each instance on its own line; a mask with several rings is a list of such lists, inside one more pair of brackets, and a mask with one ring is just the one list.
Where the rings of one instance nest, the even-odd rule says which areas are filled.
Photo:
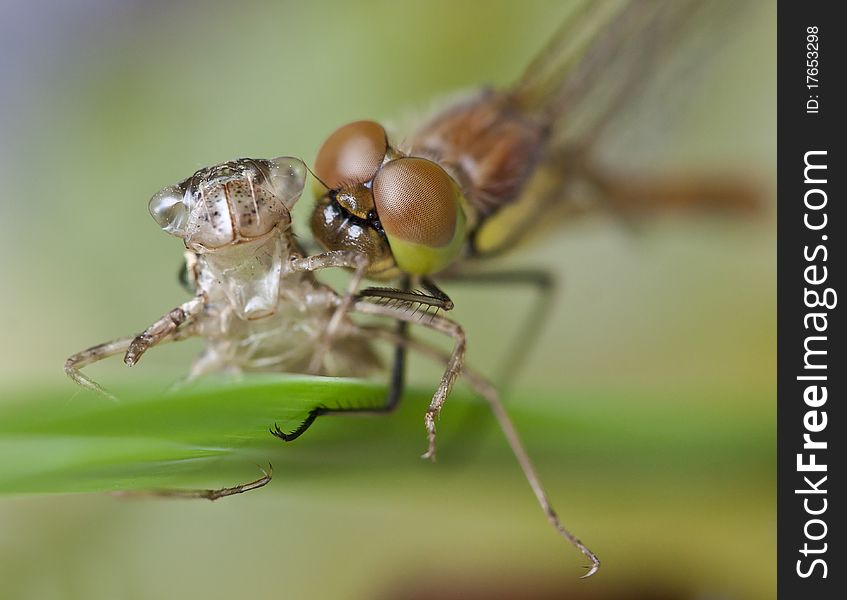
[[[146, 210], [160, 187], [237, 156], [310, 162], [347, 121], [403, 123], [440, 95], [508, 83], [570, 10], [4, 5], [0, 402], [34, 387], [72, 401], [69, 354], [182, 301], [180, 242]], [[469, 421], [448, 404], [439, 462], [417, 458], [438, 372], [414, 360], [414, 405], [323, 419], [280, 450], [302, 467], [259, 492], [215, 504], [0, 498], [0, 597], [773, 597], [775, 8], [739, 19], [672, 126], [653, 130], [642, 106], [609, 155], [650, 173], [749, 176], [765, 214], [656, 219], [635, 234], [601, 217], [502, 263], [560, 281], [508, 402], [554, 505], [604, 560], [597, 577], [577, 580], [580, 557], [549, 530], [484, 411]], [[470, 364], [496, 373], [532, 296], [447, 289]], [[118, 390], [164, 385], [199, 348], [94, 373]]]

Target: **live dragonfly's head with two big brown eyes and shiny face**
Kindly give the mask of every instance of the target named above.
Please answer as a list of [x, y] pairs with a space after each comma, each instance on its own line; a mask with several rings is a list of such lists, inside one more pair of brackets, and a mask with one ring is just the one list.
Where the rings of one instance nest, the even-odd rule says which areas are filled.
[[337, 129], [315, 161], [312, 232], [325, 247], [364, 252], [372, 277], [429, 275], [461, 252], [465, 199], [437, 163], [403, 156], [373, 121]]

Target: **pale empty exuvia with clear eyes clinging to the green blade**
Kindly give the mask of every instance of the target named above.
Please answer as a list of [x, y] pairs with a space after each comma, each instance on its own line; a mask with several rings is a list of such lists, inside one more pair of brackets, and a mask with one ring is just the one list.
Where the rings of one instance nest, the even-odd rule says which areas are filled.
[[[201, 337], [203, 353], [194, 361], [189, 379], [216, 372], [313, 373], [315, 349], [324, 332], [335, 327], [336, 338], [322, 354], [320, 370], [334, 376], [365, 376], [381, 366], [374, 339], [393, 343], [394, 367], [384, 402], [375, 407], [313, 409], [292, 432], [274, 425], [270, 433], [290, 442], [314, 420], [333, 412], [391, 411], [403, 390], [406, 348], [447, 365], [436, 391], [446, 398], [461, 372], [489, 404], [547, 519], [558, 533], [591, 560], [588, 574], [599, 560], [570, 533], [553, 510], [538, 474], [524, 449], [494, 387], [474, 371], [463, 368], [465, 335], [443, 315], [410, 310], [407, 303], [375, 304], [367, 297], [339, 294], [315, 277], [320, 269], [363, 268], [358, 255], [328, 251], [306, 255], [291, 226], [291, 210], [306, 180], [305, 164], [293, 157], [242, 158], [195, 172], [191, 177], [157, 192], [149, 210], [165, 232], [185, 244], [186, 281], [193, 297], [166, 312], [143, 332], [92, 346], [65, 362], [65, 372], [79, 385], [117, 400], [82, 369], [110, 356], [123, 354], [133, 366], [145, 352], [168, 342]], [[338, 309], [343, 307], [342, 312]], [[444, 353], [415, 340], [405, 327], [362, 325], [350, 319], [359, 313], [383, 317], [397, 324], [415, 323], [449, 336], [453, 349]], [[342, 315], [339, 319], [338, 315]], [[249, 483], [215, 490], [158, 490], [168, 497], [219, 498], [266, 485], [271, 469]]]

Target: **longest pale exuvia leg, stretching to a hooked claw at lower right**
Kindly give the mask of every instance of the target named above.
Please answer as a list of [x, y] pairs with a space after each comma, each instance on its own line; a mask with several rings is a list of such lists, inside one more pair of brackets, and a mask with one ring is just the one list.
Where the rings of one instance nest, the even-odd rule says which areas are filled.
[[[425, 356], [429, 356], [433, 358], [437, 362], [447, 363], [449, 364], [451, 356], [444, 354], [440, 350], [436, 350], [427, 344], [421, 343], [415, 339], [411, 338], [403, 338], [400, 339], [393, 332], [383, 329], [379, 326], [369, 326], [363, 327], [367, 331], [373, 333], [376, 336], [382, 337], [383, 339], [387, 339], [393, 341], [395, 344], [405, 344], [407, 347], [412, 350], [419, 352]], [[506, 438], [509, 447], [512, 450], [512, 454], [514, 454], [515, 458], [518, 461], [518, 464], [521, 467], [521, 471], [523, 471], [524, 477], [526, 477], [527, 482], [532, 488], [533, 493], [538, 501], [538, 504], [541, 506], [541, 510], [544, 511], [544, 515], [547, 517], [548, 522], [553, 526], [556, 532], [565, 538], [568, 542], [571, 543], [575, 548], [577, 548], [583, 555], [585, 555], [589, 561], [591, 561], [591, 566], [587, 567], [589, 569], [588, 573], [583, 575], [583, 578], [590, 577], [597, 572], [600, 568], [600, 559], [597, 557], [594, 552], [592, 552], [582, 541], [572, 534], [561, 522], [558, 515], [556, 514], [555, 509], [550, 503], [550, 499], [547, 496], [547, 492], [544, 489], [544, 486], [541, 483], [541, 478], [538, 476], [538, 472], [535, 470], [535, 466], [532, 464], [532, 460], [529, 458], [529, 454], [526, 451], [526, 448], [521, 441], [520, 436], [518, 435], [517, 430], [515, 429], [512, 420], [509, 418], [509, 414], [506, 412], [503, 403], [500, 401], [500, 397], [497, 394], [497, 390], [481, 375], [477, 374], [473, 369], [465, 366], [462, 369], [462, 376], [465, 380], [470, 384], [471, 388], [480, 396], [482, 396], [487, 402], [491, 409], [491, 412], [494, 414], [494, 417], [497, 419], [497, 423], [500, 425], [500, 429], [503, 432], [503, 436]]]

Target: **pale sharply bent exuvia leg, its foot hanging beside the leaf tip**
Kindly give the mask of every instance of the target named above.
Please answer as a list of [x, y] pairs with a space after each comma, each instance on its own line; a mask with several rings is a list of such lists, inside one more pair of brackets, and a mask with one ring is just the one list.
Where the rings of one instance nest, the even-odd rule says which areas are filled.
[[398, 321], [407, 321], [409, 323], [417, 323], [429, 329], [433, 329], [440, 333], [453, 338], [453, 351], [450, 353], [450, 359], [447, 361], [447, 368], [441, 376], [441, 381], [435, 394], [432, 396], [432, 401], [424, 414], [424, 425], [426, 427], [428, 446], [427, 451], [422, 458], [435, 460], [435, 419], [441, 412], [447, 396], [450, 394], [450, 389], [456, 381], [459, 373], [462, 370], [462, 363], [465, 357], [465, 347], [467, 338], [462, 327], [440, 315], [431, 315], [423, 313], [416, 316], [414, 311], [410, 311], [408, 305], [381, 305], [372, 304], [365, 300], [357, 300], [353, 305], [353, 311], [373, 316], [389, 317]]

